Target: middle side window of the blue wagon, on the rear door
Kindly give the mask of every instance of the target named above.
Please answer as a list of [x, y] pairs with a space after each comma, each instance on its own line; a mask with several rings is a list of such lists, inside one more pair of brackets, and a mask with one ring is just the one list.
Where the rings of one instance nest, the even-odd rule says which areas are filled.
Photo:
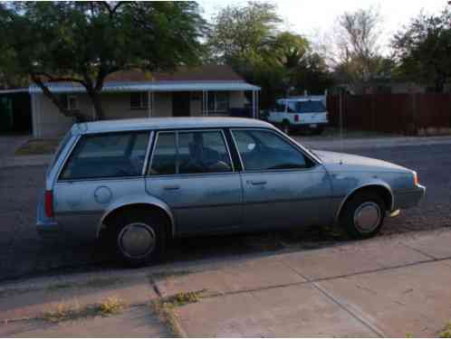
[[207, 174], [233, 170], [220, 131], [159, 133], [149, 174]]

